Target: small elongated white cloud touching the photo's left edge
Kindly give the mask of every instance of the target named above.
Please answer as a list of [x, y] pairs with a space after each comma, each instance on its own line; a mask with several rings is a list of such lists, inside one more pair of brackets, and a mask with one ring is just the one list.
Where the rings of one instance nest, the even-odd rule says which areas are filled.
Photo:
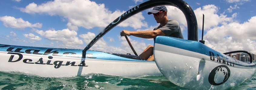
[[0, 20], [3, 22], [5, 27], [12, 27], [16, 29], [25, 29], [27, 27], [30, 28], [41, 28], [42, 23], [31, 24], [28, 21], [24, 21], [22, 18], [16, 19], [12, 16], [2, 16]]

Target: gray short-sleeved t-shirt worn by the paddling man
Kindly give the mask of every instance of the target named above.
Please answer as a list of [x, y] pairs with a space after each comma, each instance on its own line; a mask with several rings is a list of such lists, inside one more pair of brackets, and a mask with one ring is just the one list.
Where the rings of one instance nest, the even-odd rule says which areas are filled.
[[181, 33], [181, 28], [179, 26], [179, 23], [176, 20], [168, 19], [165, 26], [157, 26], [154, 30], [160, 29], [162, 32], [165, 33], [165, 36], [175, 37], [175, 38], [183, 38], [183, 35]]

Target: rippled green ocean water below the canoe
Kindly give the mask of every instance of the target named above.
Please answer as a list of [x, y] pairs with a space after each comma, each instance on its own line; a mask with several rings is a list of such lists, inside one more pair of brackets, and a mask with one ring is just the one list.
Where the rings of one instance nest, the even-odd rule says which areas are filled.
[[[1, 90], [184, 90], [164, 76], [128, 78], [90, 73], [69, 78], [47, 78], [25, 74], [0, 72]], [[256, 75], [230, 90], [255, 90]]]

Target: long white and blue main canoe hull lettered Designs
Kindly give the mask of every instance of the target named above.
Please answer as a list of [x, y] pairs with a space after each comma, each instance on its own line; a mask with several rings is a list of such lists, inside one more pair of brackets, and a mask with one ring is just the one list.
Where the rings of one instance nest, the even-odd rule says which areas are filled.
[[2, 44], [0, 48], [2, 72], [26, 73], [42, 77], [70, 77], [88, 73], [125, 77], [162, 75], [154, 61], [123, 58], [105, 52], [88, 51], [87, 57], [81, 58], [82, 50], [79, 49]]

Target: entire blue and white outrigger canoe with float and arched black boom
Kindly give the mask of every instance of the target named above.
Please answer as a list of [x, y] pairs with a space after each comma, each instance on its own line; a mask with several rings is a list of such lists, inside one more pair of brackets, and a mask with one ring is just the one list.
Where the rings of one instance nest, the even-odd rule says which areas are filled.
[[[178, 7], [184, 13], [188, 24], [188, 40], [167, 36], [156, 37], [155, 61], [145, 61], [136, 54], [88, 50], [124, 20], [160, 5]], [[255, 73], [255, 64], [252, 60], [242, 62], [226, 55], [234, 52], [246, 51], [220, 53], [198, 42], [196, 16], [186, 2], [150, 0], [121, 14], [83, 50], [0, 44], [0, 71], [43, 77], [78, 76], [88, 73], [126, 77], [164, 75], [175, 85], [188, 89], [227, 89], [251, 78]]]

